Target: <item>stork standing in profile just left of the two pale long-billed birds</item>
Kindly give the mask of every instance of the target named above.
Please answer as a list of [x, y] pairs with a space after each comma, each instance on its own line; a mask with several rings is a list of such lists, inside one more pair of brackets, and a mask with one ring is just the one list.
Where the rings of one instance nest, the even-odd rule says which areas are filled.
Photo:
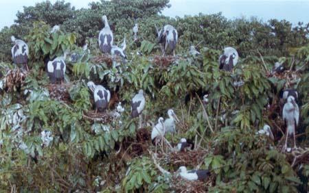
[[131, 117], [135, 118], [139, 116], [139, 127], [141, 128], [141, 112], [144, 110], [145, 107], [145, 97], [144, 91], [139, 90], [139, 93], [135, 94], [131, 101]]

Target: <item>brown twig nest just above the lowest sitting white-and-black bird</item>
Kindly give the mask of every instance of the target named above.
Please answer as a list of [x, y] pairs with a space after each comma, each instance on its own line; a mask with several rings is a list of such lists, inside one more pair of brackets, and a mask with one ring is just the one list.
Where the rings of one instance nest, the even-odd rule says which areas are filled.
[[187, 152], [174, 151], [169, 154], [161, 154], [158, 157], [174, 168], [179, 168], [180, 166], [196, 167], [204, 162], [205, 155], [207, 155], [207, 151], [194, 150]]

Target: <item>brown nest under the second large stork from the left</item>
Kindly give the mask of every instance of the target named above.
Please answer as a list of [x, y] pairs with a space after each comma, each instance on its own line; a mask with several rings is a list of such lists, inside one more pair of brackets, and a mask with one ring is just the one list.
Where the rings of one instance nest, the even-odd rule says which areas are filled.
[[69, 84], [49, 84], [49, 97], [58, 101], [70, 101]]

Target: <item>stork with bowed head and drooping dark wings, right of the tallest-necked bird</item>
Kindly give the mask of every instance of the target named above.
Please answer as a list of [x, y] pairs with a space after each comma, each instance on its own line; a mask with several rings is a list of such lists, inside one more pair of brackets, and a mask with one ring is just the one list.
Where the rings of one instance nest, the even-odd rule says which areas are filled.
[[163, 56], [165, 53], [173, 53], [175, 56], [176, 44], [178, 42], [177, 30], [172, 25], [165, 25], [162, 29], [157, 29], [158, 40], [157, 43], [161, 45]]

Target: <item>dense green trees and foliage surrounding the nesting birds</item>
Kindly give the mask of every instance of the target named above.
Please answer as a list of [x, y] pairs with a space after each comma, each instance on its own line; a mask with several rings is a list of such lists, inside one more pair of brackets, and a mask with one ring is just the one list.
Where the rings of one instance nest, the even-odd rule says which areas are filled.
[[[168, 3], [101, 0], [76, 10], [65, 1], [45, 1], [25, 7], [17, 13], [15, 25], [1, 30], [0, 190], [308, 192], [309, 23], [293, 27], [275, 19], [230, 21], [220, 13], [168, 18], [159, 14]], [[116, 44], [124, 36], [128, 40], [128, 60], [120, 66], [106, 60], [98, 47], [103, 14]], [[133, 42], [135, 22], [141, 47]], [[167, 23], [179, 32], [176, 57], [159, 56], [155, 25]], [[60, 25], [60, 31], [50, 34], [54, 25]], [[30, 47], [27, 73], [12, 64], [12, 35]], [[80, 48], [86, 40], [90, 53]], [[191, 45], [201, 55], [190, 55]], [[241, 57], [233, 73], [218, 69], [226, 46], [235, 47]], [[76, 63], [67, 61], [65, 85], [51, 85], [45, 60], [67, 49], [84, 55]], [[271, 75], [277, 61], [287, 70]], [[111, 90], [113, 100], [100, 117], [93, 114], [87, 81]], [[235, 81], [244, 84], [234, 86]], [[282, 88], [296, 88], [300, 94], [299, 149], [293, 153], [282, 152], [285, 128], [278, 99]], [[130, 118], [130, 99], [139, 89], [146, 92], [142, 129]], [[209, 93], [206, 106], [194, 97], [200, 92]], [[120, 117], [111, 116], [117, 101], [125, 107]], [[166, 117], [170, 108], [181, 121], [176, 135], [167, 140], [176, 145], [180, 138], [191, 139], [196, 149], [154, 155], [150, 125], [159, 116]], [[271, 125], [274, 141], [256, 134], [264, 124]], [[44, 130], [52, 131], [48, 146], [42, 145]], [[202, 183], [183, 181], [174, 175], [180, 164], [207, 168], [211, 178]]]

